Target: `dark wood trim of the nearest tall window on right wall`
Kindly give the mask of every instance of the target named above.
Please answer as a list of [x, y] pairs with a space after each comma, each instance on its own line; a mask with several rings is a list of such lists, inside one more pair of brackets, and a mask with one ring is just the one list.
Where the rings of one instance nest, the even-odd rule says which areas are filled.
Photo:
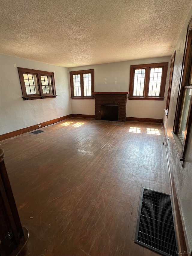
[[181, 151], [179, 156], [180, 158], [183, 158], [183, 159], [185, 157], [185, 153], [187, 150], [187, 143], [189, 140], [190, 127], [192, 123], [192, 95], [190, 97], [189, 112], [187, 116], [187, 123], [186, 123], [185, 135], [184, 135], [183, 141], [181, 140], [181, 137], [179, 134], [179, 124], [180, 124], [181, 115], [182, 115], [182, 106], [184, 101], [185, 89], [192, 88], [192, 86], [189, 85], [189, 79], [191, 77], [191, 72], [192, 72], [191, 65], [192, 65], [192, 18], [188, 24], [188, 29], [187, 29], [185, 52], [184, 52], [183, 65], [182, 65], [182, 75], [180, 80], [180, 88], [179, 88], [179, 94], [178, 94], [178, 100], [177, 100], [175, 122], [173, 127], [173, 133], [177, 135], [180, 141], [180, 144], [177, 146], [178, 152]]

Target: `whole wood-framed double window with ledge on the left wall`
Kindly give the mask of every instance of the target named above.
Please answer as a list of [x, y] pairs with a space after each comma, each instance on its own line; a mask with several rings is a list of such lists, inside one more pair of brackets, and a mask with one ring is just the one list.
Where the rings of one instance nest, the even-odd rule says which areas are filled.
[[18, 68], [23, 100], [56, 97], [54, 73]]

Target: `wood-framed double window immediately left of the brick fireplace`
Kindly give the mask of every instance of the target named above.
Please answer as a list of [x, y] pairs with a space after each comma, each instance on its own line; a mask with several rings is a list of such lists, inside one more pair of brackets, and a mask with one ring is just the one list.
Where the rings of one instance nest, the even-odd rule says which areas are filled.
[[70, 71], [71, 98], [94, 99], [94, 69]]

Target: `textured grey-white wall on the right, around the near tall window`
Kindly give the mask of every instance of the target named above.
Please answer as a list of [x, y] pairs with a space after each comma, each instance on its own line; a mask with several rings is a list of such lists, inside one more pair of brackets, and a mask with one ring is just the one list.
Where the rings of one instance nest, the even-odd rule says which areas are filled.
[[169, 147], [172, 152], [174, 177], [190, 249], [192, 249], [192, 129], [190, 130], [190, 138], [187, 146], [184, 168], [182, 168], [181, 162], [179, 161], [179, 155], [177, 153], [171, 131], [173, 131], [173, 124], [175, 119], [185, 40], [187, 35], [187, 25], [191, 16], [192, 9], [190, 10], [190, 13], [174, 49], [176, 50], [176, 58], [173, 70], [169, 115], [168, 118], [166, 116], [164, 117], [164, 123], [166, 125], [167, 135], [169, 137]]

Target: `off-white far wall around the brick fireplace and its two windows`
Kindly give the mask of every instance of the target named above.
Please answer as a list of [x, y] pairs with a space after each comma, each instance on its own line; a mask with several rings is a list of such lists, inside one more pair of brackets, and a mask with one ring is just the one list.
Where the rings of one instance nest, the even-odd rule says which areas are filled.
[[[94, 69], [95, 92], [128, 92], [130, 66], [146, 63], [170, 62], [171, 57], [140, 59], [69, 68], [69, 71]], [[164, 117], [169, 69], [164, 101], [127, 100], [127, 117], [159, 118]], [[95, 115], [95, 100], [71, 100], [73, 114]]]

